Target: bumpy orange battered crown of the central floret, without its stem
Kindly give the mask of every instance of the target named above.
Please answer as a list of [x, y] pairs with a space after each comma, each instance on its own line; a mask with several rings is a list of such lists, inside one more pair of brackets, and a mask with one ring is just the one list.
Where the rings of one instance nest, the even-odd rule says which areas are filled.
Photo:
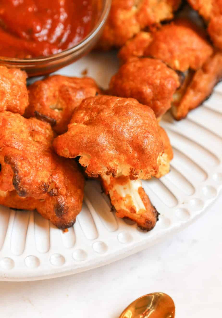
[[73, 114], [69, 130], [54, 140], [58, 155], [87, 167], [89, 176], [148, 179], [164, 151], [153, 110], [132, 98], [90, 97]]

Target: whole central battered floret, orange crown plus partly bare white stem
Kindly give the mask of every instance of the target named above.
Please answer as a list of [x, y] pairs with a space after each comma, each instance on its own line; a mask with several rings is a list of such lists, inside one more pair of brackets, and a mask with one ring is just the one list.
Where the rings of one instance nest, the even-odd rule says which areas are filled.
[[158, 173], [164, 152], [158, 129], [152, 109], [135, 99], [90, 97], [74, 112], [68, 132], [53, 145], [60, 156], [79, 156], [89, 176], [102, 178], [118, 216], [150, 230], [158, 214], [135, 180]]

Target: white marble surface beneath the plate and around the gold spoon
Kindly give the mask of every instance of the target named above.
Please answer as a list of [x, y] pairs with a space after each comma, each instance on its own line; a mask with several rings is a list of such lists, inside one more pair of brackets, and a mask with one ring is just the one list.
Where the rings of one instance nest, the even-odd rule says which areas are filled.
[[0, 282], [1, 318], [118, 318], [134, 299], [169, 294], [176, 318], [222, 316], [222, 195], [189, 228], [116, 263], [68, 277]]

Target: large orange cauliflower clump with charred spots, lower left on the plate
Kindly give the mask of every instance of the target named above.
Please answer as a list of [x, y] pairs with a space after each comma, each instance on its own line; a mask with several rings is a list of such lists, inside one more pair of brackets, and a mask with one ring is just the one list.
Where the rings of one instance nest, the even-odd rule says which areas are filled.
[[81, 210], [84, 178], [74, 160], [54, 153], [53, 138], [48, 123], [0, 113], [0, 204], [36, 209], [67, 228]]

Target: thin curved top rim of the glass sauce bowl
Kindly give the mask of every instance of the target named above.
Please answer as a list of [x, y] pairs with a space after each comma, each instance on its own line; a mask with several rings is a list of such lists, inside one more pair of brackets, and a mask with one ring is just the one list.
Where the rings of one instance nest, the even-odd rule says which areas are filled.
[[46, 57], [19, 59], [19, 58], [8, 58], [5, 56], [0, 56], [0, 61], [9, 62], [9, 63], [10, 62], [15, 62], [15, 63], [26, 63], [27, 62], [27, 64], [38, 63], [38, 62], [49, 62], [52, 60], [57, 60], [57, 59], [63, 58], [67, 55], [70, 55], [74, 52], [81, 50], [85, 45], [87, 45], [94, 38], [94, 36], [98, 33], [98, 31], [103, 27], [103, 25], [108, 17], [110, 7], [111, 7], [111, 0], [104, 0], [103, 5], [104, 5], [103, 11], [102, 11], [102, 14], [101, 14], [97, 24], [92, 29], [92, 31], [87, 35], [87, 37], [85, 37], [77, 45], [72, 46], [68, 49], [65, 49], [62, 52], [52, 54], [52, 55], [49, 55]]

